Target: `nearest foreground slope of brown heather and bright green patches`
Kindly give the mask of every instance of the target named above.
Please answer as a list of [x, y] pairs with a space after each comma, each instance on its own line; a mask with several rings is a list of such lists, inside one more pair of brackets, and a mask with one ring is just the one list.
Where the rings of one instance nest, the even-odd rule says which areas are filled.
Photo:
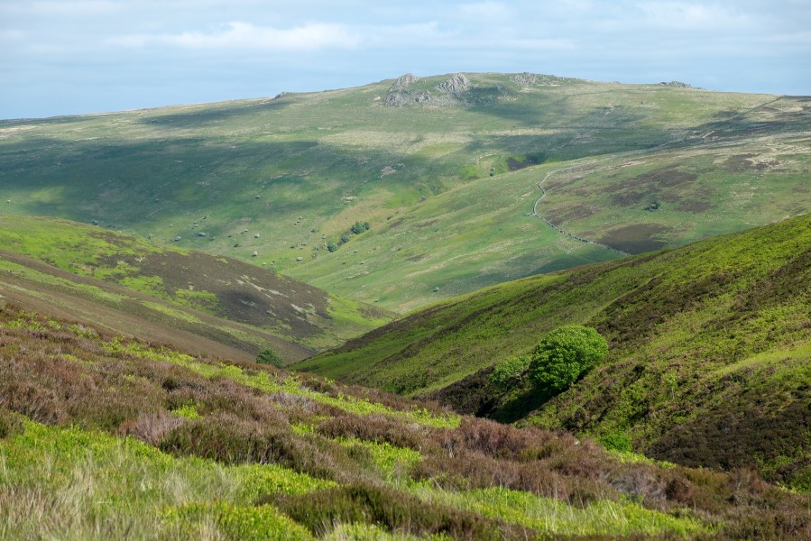
[[806, 496], [0, 308], [0, 536], [801, 538]]

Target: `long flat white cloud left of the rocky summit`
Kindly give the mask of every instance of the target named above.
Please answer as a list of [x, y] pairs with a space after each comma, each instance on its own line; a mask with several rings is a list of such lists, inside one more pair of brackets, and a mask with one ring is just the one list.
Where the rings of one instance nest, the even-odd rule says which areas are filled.
[[321, 50], [354, 49], [361, 37], [345, 25], [307, 23], [289, 29], [228, 23], [219, 32], [182, 32], [180, 34], [131, 34], [113, 38], [110, 44], [140, 48], [149, 45], [173, 45], [191, 50]]

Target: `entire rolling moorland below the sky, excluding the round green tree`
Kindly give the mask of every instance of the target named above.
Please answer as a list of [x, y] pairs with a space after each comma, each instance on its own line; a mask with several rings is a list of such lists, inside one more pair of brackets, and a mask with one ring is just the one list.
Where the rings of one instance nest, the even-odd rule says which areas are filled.
[[811, 538], [809, 161], [528, 73], [2, 120], [0, 537]]

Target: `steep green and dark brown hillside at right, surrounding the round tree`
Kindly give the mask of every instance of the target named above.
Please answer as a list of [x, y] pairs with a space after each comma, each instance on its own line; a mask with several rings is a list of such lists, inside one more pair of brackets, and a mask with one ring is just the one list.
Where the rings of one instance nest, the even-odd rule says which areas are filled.
[[[548, 331], [596, 327], [609, 358], [557, 397], [488, 385]], [[757, 467], [811, 489], [811, 215], [438, 303], [297, 364], [564, 427], [662, 459]]]

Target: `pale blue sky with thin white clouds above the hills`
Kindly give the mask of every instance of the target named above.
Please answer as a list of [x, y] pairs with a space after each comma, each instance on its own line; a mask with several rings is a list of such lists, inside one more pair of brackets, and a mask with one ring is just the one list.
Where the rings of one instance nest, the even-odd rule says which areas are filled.
[[0, 0], [0, 119], [477, 71], [811, 95], [811, 1]]

